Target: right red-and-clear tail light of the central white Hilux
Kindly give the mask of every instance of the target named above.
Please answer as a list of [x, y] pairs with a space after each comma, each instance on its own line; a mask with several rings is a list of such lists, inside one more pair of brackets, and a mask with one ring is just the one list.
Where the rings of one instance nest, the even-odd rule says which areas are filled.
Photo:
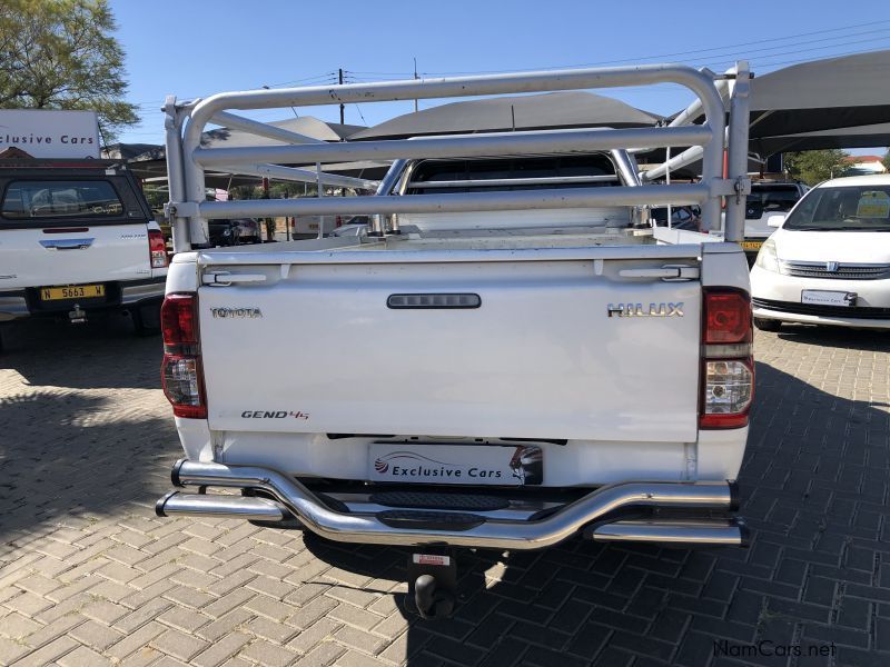
[[748, 426], [754, 397], [751, 297], [733, 288], [705, 288], [703, 316], [699, 426]]

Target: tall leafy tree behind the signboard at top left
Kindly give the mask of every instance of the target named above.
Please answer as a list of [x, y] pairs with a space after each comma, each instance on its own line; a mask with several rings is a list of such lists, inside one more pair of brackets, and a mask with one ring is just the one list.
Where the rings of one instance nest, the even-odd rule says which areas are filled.
[[0, 2], [0, 108], [91, 109], [106, 143], [139, 121], [107, 0]]

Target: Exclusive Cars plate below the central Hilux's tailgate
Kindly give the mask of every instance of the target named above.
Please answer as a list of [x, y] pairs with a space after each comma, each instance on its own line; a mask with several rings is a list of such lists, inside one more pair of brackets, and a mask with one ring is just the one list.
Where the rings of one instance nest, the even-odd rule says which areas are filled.
[[368, 478], [402, 484], [533, 486], [544, 481], [537, 445], [405, 445], [374, 442]]

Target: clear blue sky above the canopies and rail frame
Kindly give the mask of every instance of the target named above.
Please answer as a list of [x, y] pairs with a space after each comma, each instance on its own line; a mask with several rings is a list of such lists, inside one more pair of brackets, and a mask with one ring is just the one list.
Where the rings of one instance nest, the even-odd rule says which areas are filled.
[[[127, 53], [129, 99], [142, 122], [122, 141], [161, 143], [168, 93], [188, 99], [261, 86], [498, 70], [684, 62], [723, 70], [748, 58], [765, 73], [794, 62], [890, 48], [890, 3], [828, 2], [297, 2], [111, 0]], [[718, 9], [720, 8], [720, 9]], [[888, 86], [888, 82], [880, 82]], [[682, 88], [606, 94], [657, 113], [686, 106]], [[425, 108], [433, 101], [422, 101]], [[346, 122], [375, 125], [411, 102], [347, 106]], [[337, 120], [337, 107], [296, 110]], [[255, 112], [287, 118], [289, 109]], [[888, 119], [890, 120], [890, 119]], [[869, 152], [869, 151], [854, 151]]]

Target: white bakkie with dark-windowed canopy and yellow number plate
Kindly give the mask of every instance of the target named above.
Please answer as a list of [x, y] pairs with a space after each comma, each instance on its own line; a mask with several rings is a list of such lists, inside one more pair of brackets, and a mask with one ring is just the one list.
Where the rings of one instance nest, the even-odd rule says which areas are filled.
[[160, 227], [132, 173], [101, 160], [0, 160], [0, 325], [127, 310], [157, 330]]

